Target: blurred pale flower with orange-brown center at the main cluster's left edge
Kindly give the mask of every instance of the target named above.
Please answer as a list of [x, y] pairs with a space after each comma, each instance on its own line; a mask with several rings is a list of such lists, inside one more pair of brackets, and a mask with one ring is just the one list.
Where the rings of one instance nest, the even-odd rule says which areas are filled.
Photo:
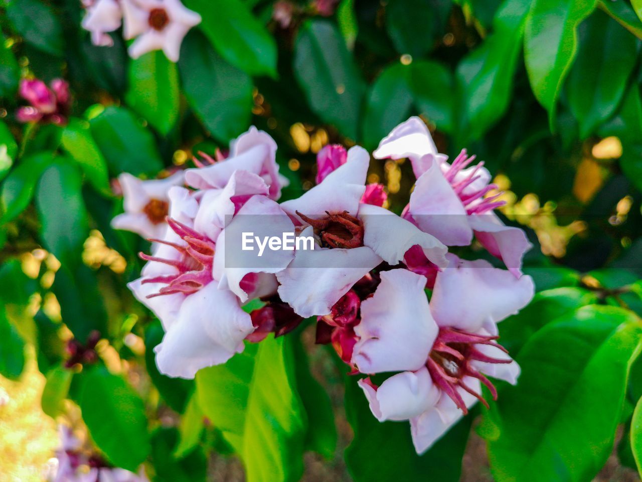
[[162, 238], [167, 229], [169, 188], [181, 186], [183, 179], [183, 172], [152, 181], [142, 181], [126, 172], [119, 175], [125, 212], [112, 219], [112, 227], [138, 233], [144, 238]]

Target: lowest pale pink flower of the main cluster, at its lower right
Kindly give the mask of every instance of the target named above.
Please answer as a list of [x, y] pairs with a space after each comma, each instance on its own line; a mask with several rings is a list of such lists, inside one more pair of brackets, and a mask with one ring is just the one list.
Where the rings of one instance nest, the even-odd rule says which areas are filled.
[[359, 371], [401, 372], [378, 387], [360, 381], [372, 413], [381, 421], [410, 420], [420, 454], [477, 400], [486, 403], [481, 384], [496, 397], [486, 375], [516, 382], [519, 366], [496, 343], [497, 323], [534, 295], [530, 276], [517, 279], [483, 260], [447, 258], [429, 303], [419, 274], [381, 272], [381, 284], [362, 301], [354, 327], [352, 364]]

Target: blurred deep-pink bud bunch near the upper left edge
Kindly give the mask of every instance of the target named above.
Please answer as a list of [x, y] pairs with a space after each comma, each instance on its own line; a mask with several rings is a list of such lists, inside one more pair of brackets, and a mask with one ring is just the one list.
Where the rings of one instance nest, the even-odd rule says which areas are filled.
[[49, 87], [37, 78], [22, 79], [20, 96], [31, 105], [20, 107], [16, 113], [19, 122], [41, 122], [65, 125], [69, 116], [71, 97], [69, 84], [61, 78], [55, 78]]

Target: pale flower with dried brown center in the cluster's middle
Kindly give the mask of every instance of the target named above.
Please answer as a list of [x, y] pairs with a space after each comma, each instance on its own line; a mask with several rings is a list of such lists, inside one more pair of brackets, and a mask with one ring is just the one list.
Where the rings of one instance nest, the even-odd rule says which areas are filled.
[[[315, 249], [297, 251], [277, 273], [279, 294], [300, 316], [324, 316], [342, 296], [381, 262], [395, 265], [413, 245], [446, 265], [446, 246], [412, 223], [379, 206], [361, 203], [370, 156], [352, 147], [347, 162], [298, 199], [281, 208], [313, 236]], [[302, 269], [304, 268], [304, 269]]]

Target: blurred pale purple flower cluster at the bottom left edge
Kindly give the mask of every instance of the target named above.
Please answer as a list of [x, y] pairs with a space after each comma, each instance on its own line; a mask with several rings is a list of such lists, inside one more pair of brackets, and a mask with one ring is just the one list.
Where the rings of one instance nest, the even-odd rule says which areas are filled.
[[66, 425], [58, 426], [58, 434], [57, 464], [48, 476], [49, 482], [149, 482], [142, 468], [139, 474], [134, 474], [110, 467], [103, 458], [86, 451]]

